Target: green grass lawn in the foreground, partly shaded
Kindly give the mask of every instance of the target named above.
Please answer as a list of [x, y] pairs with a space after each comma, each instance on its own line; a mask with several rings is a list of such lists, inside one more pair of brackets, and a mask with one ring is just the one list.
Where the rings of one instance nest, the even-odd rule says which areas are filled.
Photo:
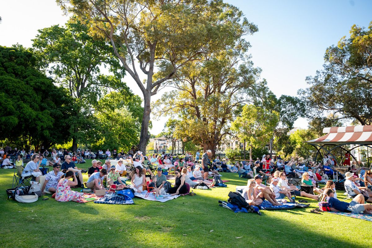
[[218, 200], [247, 183], [233, 173], [222, 174], [227, 188], [194, 190], [195, 196], [166, 203], [135, 198], [132, 205], [109, 205], [7, 200], [13, 171], [0, 169], [0, 247], [371, 247], [371, 222], [310, 213], [317, 202], [308, 198], [307, 209], [263, 210], [262, 216], [219, 207]]

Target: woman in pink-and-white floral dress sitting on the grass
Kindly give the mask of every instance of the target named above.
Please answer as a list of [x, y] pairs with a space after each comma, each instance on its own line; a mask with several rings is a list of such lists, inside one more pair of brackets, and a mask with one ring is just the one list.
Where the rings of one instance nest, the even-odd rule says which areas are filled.
[[[74, 177], [75, 181], [70, 181], [70, 178]], [[57, 185], [57, 192], [55, 194], [56, 201], [72, 201], [79, 199], [83, 193], [76, 192], [70, 189], [70, 186], [77, 185], [77, 178], [74, 172], [67, 171], [62, 175]]]

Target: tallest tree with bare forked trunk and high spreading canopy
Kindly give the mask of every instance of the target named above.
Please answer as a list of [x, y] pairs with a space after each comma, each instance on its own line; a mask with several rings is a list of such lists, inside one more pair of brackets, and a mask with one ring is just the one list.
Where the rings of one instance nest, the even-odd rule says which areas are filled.
[[[104, 36], [144, 98], [140, 150], [149, 139], [151, 96], [181, 67], [233, 44], [256, 26], [222, 1], [57, 0]], [[138, 68], [139, 67], [139, 68]], [[158, 71], [154, 71], [157, 67]], [[142, 81], [142, 77], [145, 79]]]

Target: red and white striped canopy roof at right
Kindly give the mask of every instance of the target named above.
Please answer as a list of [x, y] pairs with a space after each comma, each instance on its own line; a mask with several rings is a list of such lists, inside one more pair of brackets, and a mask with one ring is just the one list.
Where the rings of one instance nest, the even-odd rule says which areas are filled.
[[309, 140], [308, 143], [371, 143], [372, 144], [372, 125], [350, 126], [350, 127], [325, 127], [324, 136]]

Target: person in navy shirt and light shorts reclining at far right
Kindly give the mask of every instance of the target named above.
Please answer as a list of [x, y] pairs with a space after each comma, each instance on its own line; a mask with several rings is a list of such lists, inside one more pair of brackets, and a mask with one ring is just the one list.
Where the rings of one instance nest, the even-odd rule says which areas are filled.
[[324, 190], [324, 194], [327, 195], [325, 200], [330, 205], [331, 211], [372, 214], [372, 204], [365, 204], [363, 195], [358, 194], [350, 203], [347, 203], [334, 198], [334, 193], [335, 191], [330, 188]]

